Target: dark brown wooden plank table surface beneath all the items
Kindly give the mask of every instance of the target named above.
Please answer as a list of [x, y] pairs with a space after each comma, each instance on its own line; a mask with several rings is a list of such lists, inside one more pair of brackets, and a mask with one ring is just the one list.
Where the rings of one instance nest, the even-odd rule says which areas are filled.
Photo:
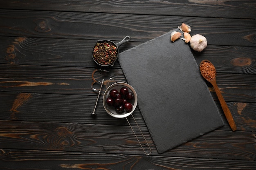
[[[253, 0], [2, 0], [0, 9], [1, 170], [256, 169]], [[96, 40], [130, 35], [122, 52], [182, 22], [207, 38], [207, 49], [193, 55], [198, 64], [207, 59], [216, 66], [237, 131], [207, 83], [225, 126], [158, 154], [137, 108], [133, 115], [152, 148], [146, 156], [126, 120], [110, 117], [101, 100], [91, 116], [97, 99], [91, 50]], [[109, 76], [126, 82], [118, 62]]]

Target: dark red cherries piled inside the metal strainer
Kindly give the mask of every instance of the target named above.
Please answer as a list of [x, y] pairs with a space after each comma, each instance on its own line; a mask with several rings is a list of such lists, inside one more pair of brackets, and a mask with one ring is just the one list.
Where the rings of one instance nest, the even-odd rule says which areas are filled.
[[108, 106], [115, 108], [116, 112], [121, 114], [130, 112], [132, 110], [132, 104], [130, 101], [134, 99], [133, 93], [129, 91], [127, 87], [122, 87], [120, 92], [117, 89], [112, 89], [109, 93], [109, 97], [106, 99]]

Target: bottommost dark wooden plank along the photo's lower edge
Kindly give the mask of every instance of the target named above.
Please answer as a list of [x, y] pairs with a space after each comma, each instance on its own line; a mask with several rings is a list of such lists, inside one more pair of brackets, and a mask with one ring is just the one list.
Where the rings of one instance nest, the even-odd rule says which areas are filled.
[[[122, 154], [56, 152], [41, 150], [0, 149], [2, 170], [74, 170], [76, 169], [153, 169], [153, 170], [254, 170], [255, 161], [189, 157], [155, 157]], [[39, 163], [38, 160], [43, 160]]]

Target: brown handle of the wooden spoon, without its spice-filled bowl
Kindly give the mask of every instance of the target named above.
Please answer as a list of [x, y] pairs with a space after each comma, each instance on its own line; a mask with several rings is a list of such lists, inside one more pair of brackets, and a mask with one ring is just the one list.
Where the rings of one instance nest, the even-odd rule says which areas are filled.
[[217, 86], [216, 81], [212, 82], [212, 85], [213, 85], [213, 88], [214, 88], [214, 91], [215, 91], [216, 95], [218, 96], [218, 99], [220, 101], [220, 105], [222, 107], [222, 110], [223, 110], [226, 118], [227, 118], [227, 121], [229, 122], [229, 126], [231, 127], [231, 129], [233, 131], [235, 131], [236, 130], [235, 121], [234, 121], [234, 119], [233, 119], [233, 117], [231, 115], [231, 112], [229, 110], [229, 107], [227, 106], [227, 103], [225, 102], [222, 94], [220, 93], [220, 90], [219, 90], [219, 88]]

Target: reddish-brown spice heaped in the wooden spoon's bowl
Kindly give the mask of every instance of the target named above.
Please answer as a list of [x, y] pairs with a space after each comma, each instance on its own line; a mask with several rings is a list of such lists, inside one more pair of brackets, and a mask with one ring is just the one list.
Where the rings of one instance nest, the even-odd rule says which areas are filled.
[[202, 76], [208, 81], [211, 81], [216, 77], [215, 67], [210, 62], [207, 62], [207, 61], [202, 62], [200, 65], [200, 71]]

